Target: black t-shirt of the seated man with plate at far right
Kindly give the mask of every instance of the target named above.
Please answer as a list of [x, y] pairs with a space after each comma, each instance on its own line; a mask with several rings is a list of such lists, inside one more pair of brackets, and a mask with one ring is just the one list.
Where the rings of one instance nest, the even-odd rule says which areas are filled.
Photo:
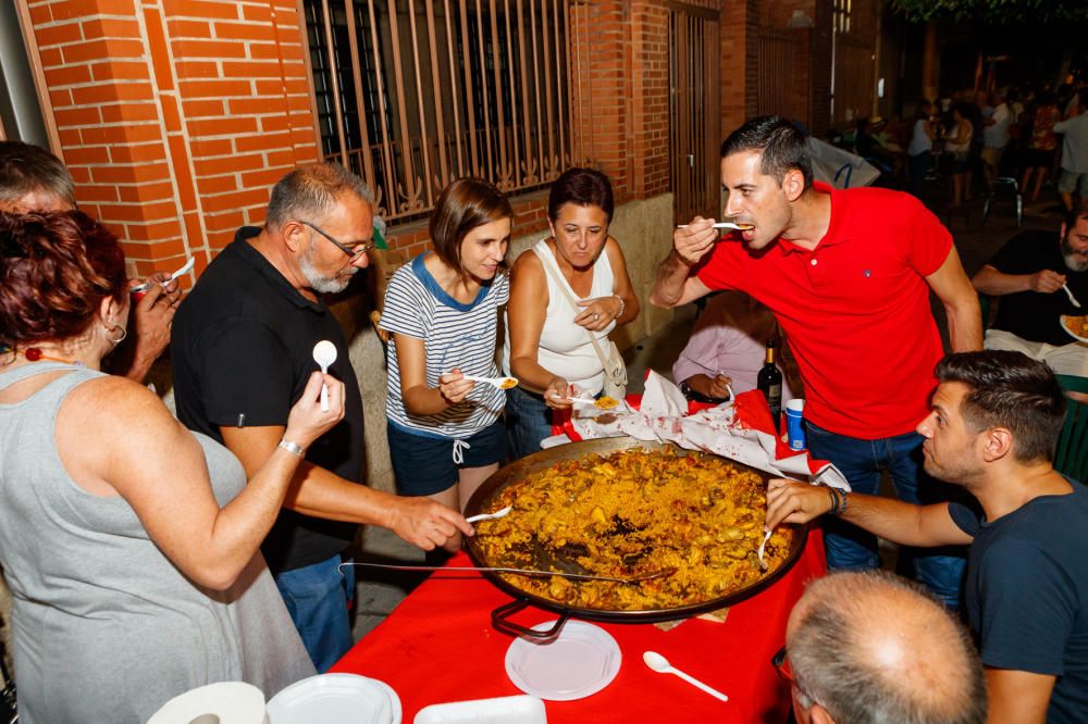
[[[1074, 272], [1065, 265], [1054, 232], [1021, 232], [989, 263], [1003, 274], [1035, 274], [1044, 269], [1064, 274], [1073, 296], [1081, 304], [1088, 303], [1088, 272]], [[1029, 341], [1072, 345], [1076, 339], [1062, 328], [1061, 315], [1084, 313], [1085, 310], [1074, 307], [1061, 289], [1049, 295], [1017, 291], [1001, 297], [993, 328]]]

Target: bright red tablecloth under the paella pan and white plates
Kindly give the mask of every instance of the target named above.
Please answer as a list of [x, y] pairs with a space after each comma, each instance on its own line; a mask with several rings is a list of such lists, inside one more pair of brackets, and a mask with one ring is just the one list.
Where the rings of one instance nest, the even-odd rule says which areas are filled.
[[[450, 565], [470, 562], [462, 552]], [[619, 642], [619, 674], [585, 699], [545, 702], [547, 721], [786, 721], [789, 686], [770, 658], [782, 646], [793, 603], [825, 569], [824, 541], [814, 528], [793, 567], [759, 595], [732, 607], [725, 623], [693, 619], [668, 632], [653, 624], [598, 623]], [[492, 610], [509, 601], [478, 574], [435, 573], [332, 671], [387, 683], [400, 697], [406, 723], [428, 704], [521, 694], [504, 666], [514, 639], [491, 625]], [[515, 621], [534, 625], [555, 619], [555, 613], [530, 608]], [[729, 702], [676, 676], [652, 672], [642, 661], [646, 650], [725, 692]]]

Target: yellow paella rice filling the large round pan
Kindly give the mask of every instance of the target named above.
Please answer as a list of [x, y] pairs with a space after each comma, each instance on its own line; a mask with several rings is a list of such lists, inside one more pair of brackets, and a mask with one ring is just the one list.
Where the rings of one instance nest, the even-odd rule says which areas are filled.
[[494, 566], [631, 578], [639, 583], [500, 574], [517, 588], [582, 609], [647, 611], [733, 592], [784, 564], [794, 530], [765, 550], [763, 477], [716, 455], [632, 449], [565, 461], [507, 484], [485, 510], [472, 546]]

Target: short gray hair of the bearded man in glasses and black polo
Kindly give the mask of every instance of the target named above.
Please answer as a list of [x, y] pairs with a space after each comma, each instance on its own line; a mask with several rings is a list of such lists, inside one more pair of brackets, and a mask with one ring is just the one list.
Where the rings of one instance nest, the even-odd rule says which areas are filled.
[[290, 219], [320, 221], [329, 214], [344, 194], [351, 194], [374, 209], [374, 195], [367, 183], [335, 163], [313, 163], [299, 166], [272, 187], [267, 227], [275, 227]]

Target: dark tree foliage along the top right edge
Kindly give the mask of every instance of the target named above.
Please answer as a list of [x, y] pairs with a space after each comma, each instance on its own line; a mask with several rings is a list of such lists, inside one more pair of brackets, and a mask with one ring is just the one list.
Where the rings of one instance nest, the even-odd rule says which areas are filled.
[[913, 22], [951, 18], [988, 25], [1050, 25], [1088, 21], [1084, 0], [891, 0]]

